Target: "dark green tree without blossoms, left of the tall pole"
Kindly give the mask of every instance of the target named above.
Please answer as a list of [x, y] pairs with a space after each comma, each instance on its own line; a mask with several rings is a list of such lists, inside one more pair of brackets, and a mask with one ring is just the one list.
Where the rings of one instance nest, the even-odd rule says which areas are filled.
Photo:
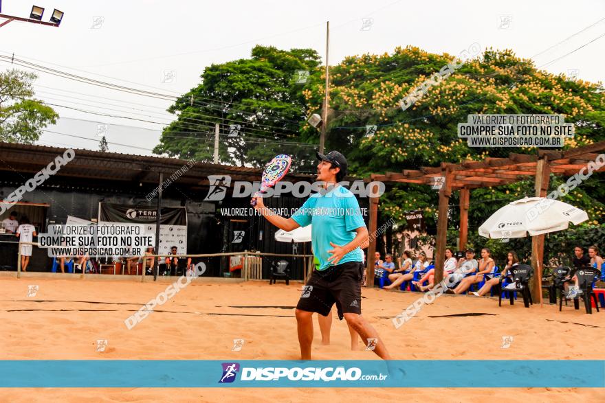
[[[221, 162], [262, 166], [285, 153], [296, 155], [294, 168], [308, 165], [313, 148], [300, 144], [298, 132], [307, 117], [303, 91], [319, 79], [319, 60], [311, 49], [256, 46], [251, 58], [207, 67], [201, 83], [168, 108], [177, 117], [154, 152], [211, 162], [219, 123]], [[307, 82], [297, 83], [297, 71], [309, 71]], [[239, 125], [233, 137], [230, 125]]]

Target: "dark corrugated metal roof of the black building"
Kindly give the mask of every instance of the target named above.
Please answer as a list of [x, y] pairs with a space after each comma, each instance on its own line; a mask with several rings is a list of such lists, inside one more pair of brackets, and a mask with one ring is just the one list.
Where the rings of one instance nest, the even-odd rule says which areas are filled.
[[[36, 146], [21, 143], [0, 142], [0, 172], [31, 172], [35, 174], [45, 168], [67, 148]], [[187, 160], [149, 157], [118, 152], [100, 152], [74, 149], [76, 157], [61, 168], [56, 176], [103, 181], [124, 181], [131, 183], [157, 183], [159, 172], [164, 179], [183, 167]], [[235, 167], [213, 163], [196, 162], [177, 180], [190, 187], [208, 186], [208, 175], [230, 175], [232, 181], [260, 181], [259, 168]], [[286, 180], [313, 181], [309, 174], [288, 174]]]

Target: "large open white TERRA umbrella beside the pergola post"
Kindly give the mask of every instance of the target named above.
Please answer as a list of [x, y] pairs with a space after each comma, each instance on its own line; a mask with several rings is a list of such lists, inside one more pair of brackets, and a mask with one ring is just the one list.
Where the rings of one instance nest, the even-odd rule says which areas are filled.
[[588, 220], [586, 211], [559, 200], [526, 197], [511, 202], [487, 218], [479, 227], [485, 238], [523, 238], [561, 231]]

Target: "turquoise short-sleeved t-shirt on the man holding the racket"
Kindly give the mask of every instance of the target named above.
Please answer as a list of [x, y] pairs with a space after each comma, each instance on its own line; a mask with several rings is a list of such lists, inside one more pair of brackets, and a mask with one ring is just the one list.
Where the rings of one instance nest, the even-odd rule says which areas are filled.
[[[344, 246], [355, 239], [356, 229], [365, 227], [359, 203], [349, 189], [337, 186], [326, 194], [316, 193], [305, 201], [303, 207], [296, 211], [292, 218], [300, 227], [311, 227], [311, 244], [313, 253], [320, 262], [319, 270], [331, 266], [328, 253], [333, 249], [330, 242]], [[362, 262], [362, 250], [357, 247], [344, 255], [338, 264]]]

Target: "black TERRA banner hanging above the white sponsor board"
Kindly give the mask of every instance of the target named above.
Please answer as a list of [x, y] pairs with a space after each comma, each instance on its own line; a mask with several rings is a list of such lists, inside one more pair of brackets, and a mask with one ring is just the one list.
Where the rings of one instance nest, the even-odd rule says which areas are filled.
[[[157, 209], [113, 203], [100, 203], [100, 221], [129, 222], [132, 224], [155, 224]], [[162, 207], [162, 225], [187, 225], [185, 207]]]

